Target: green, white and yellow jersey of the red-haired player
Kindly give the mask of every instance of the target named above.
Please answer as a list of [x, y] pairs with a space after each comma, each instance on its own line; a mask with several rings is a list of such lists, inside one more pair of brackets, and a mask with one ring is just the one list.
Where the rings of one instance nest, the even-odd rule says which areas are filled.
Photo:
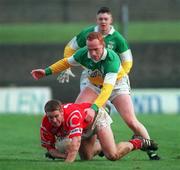
[[117, 79], [122, 74], [119, 56], [111, 49], [104, 48], [99, 61], [94, 61], [87, 47], [76, 51], [69, 58], [64, 58], [45, 69], [46, 75], [59, 73], [71, 66], [83, 66], [88, 70], [88, 78], [92, 84], [101, 88], [101, 92], [95, 100], [94, 109], [102, 107], [112, 93]]

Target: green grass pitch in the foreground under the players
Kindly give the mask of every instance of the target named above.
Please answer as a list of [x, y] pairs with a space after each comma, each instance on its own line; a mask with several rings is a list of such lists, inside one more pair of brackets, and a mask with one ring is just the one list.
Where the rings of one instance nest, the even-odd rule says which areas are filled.
[[[43, 157], [40, 147], [39, 126], [41, 116], [0, 115], [0, 169], [2, 170], [178, 170], [180, 166], [179, 115], [140, 115], [152, 138], [159, 143], [160, 161], [149, 161], [142, 151], [134, 151], [122, 160], [111, 162], [95, 157], [92, 161], [65, 164]], [[118, 115], [113, 116], [113, 131], [118, 140], [128, 140], [131, 131]]]

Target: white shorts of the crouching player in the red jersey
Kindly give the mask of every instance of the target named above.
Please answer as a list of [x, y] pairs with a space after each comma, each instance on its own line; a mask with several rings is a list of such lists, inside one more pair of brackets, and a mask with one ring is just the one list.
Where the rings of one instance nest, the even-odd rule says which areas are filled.
[[106, 127], [110, 127], [112, 119], [104, 108], [99, 108], [97, 116], [91, 126], [86, 132], [82, 134], [82, 139], [87, 139], [94, 135], [98, 130]]

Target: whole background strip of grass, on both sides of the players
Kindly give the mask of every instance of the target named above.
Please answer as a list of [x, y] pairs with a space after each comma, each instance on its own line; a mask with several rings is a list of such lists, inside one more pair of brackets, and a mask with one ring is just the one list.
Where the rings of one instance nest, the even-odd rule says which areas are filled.
[[[87, 23], [0, 24], [0, 44], [64, 43], [90, 25]], [[180, 21], [130, 22], [128, 30], [129, 42], [180, 41]]]

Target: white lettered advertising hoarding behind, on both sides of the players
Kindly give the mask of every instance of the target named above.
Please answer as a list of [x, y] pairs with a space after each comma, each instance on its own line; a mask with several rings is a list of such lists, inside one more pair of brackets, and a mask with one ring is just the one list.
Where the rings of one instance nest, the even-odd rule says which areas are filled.
[[[0, 113], [43, 114], [52, 98], [48, 87], [0, 88]], [[136, 113], [180, 113], [180, 89], [133, 89]]]

